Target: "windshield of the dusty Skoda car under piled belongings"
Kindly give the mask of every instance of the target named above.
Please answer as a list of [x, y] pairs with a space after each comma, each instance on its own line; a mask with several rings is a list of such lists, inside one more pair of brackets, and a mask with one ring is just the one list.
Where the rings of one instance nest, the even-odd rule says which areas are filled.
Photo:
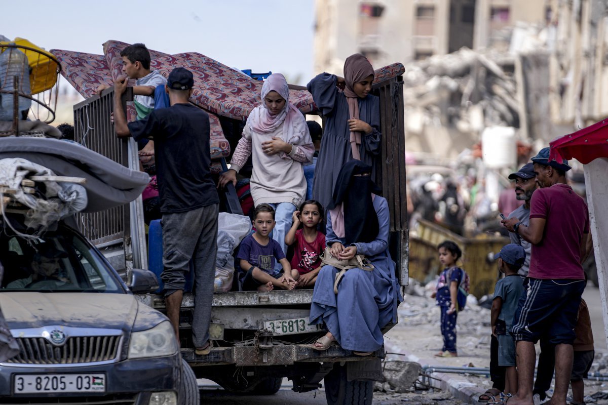
[[125, 292], [97, 251], [63, 227], [41, 242], [0, 233], [0, 262], [0, 291]]

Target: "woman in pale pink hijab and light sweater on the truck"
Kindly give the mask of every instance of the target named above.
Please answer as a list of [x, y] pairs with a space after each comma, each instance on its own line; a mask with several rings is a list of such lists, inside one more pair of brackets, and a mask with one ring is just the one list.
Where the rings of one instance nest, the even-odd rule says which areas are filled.
[[306, 197], [302, 166], [313, 162], [314, 146], [304, 115], [289, 103], [287, 81], [281, 73], [264, 81], [261, 100], [247, 118], [230, 169], [219, 177], [219, 186], [236, 184], [237, 172], [252, 155], [254, 205], [268, 203], [275, 209], [277, 224], [272, 239], [285, 253], [285, 234], [291, 227], [292, 214]]

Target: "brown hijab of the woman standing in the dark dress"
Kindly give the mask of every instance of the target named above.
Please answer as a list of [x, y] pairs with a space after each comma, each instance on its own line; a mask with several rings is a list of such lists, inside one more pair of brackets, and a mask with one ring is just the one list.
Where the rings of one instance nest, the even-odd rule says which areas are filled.
[[[344, 62], [344, 95], [348, 102], [348, 113], [350, 119], [354, 118], [359, 120], [359, 103], [358, 97], [353, 90], [355, 83], [364, 80], [368, 76], [374, 75], [374, 68], [371, 66], [370, 61], [361, 55], [361, 53], [355, 53], [354, 55], [348, 56]], [[350, 147], [353, 152], [353, 158], [361, 160], [359, 154], [359, 145], [361, 145], [361, 132], [351, 131], [350, 132]]]

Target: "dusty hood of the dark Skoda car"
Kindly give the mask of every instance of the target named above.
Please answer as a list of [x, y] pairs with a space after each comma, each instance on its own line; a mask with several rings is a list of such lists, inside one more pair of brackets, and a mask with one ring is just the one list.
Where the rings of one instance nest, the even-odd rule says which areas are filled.
[[0, 309], [11, 329], [47, 325], [133, 327], [139, 303], [130, 294], [2, 292]]

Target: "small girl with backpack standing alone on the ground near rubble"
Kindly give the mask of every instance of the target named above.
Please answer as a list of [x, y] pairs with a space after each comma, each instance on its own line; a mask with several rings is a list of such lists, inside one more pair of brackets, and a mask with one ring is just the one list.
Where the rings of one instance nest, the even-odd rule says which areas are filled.
[[435, 354], [438, 357], [457, 357], [456, 351], [456, 310], [458, 285], [465, 272], [457, 267], [456, 262], [462, 256], [458, 245], [451, 240], [441, 242], [437, 247], [439, 261], [444, 270], [441, 271], [437, 282], [437, 305], [441, 308], [441, 335], [443, 335], [443, 349]]

